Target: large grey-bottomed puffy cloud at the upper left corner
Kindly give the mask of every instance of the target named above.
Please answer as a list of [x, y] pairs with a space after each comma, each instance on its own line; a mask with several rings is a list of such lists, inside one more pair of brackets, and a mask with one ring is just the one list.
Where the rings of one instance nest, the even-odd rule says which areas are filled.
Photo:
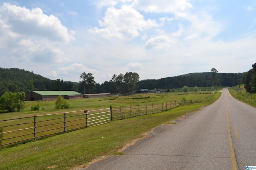
[[0, 23], [2, 30], [9, 35], [33, 35], [65, 42], [74, 39], [57, 17], [43, 14], [40, 8], [29, 10], [26, 7], [4, 3], [0, 6]]

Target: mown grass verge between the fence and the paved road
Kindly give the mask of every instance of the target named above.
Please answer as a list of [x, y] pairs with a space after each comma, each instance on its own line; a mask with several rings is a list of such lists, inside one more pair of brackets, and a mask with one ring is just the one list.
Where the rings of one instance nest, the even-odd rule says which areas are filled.
[[[212, 104], [221, 93], [214, 93], [211, 100], [194, 105], [145, 115], [122, 121], [90, 127], [56, 135], [44, 140], [0, 150], [0, 169], [4, 170], [70, 170], [82, 168], [95, 158], [122, 154], [120, 150], [135, 139], [163, 123], [197, 111]], [[38, 149], [35, 149], [38, 147]]]

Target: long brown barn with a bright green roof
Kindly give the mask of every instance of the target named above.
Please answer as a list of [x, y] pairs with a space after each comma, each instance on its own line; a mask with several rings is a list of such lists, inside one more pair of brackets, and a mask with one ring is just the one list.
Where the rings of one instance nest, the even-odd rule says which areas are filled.
[[26, 94], [26, 100], [50, 101], [57, 100], [58, 96], [61, 96], [63, 99], [68, 100], [83, 98], [83, 95], [81, 93], [75, 91], [32, 91]]

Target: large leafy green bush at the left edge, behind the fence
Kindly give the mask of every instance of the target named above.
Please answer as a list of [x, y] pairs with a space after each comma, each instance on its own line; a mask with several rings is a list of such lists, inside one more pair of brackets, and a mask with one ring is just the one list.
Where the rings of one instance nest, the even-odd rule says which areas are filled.
[[24, 92], [5, 92], [0, 97], [0, 109], [8, 112], [21, 111], [25, 108], [24, 101], [26, 95]]

